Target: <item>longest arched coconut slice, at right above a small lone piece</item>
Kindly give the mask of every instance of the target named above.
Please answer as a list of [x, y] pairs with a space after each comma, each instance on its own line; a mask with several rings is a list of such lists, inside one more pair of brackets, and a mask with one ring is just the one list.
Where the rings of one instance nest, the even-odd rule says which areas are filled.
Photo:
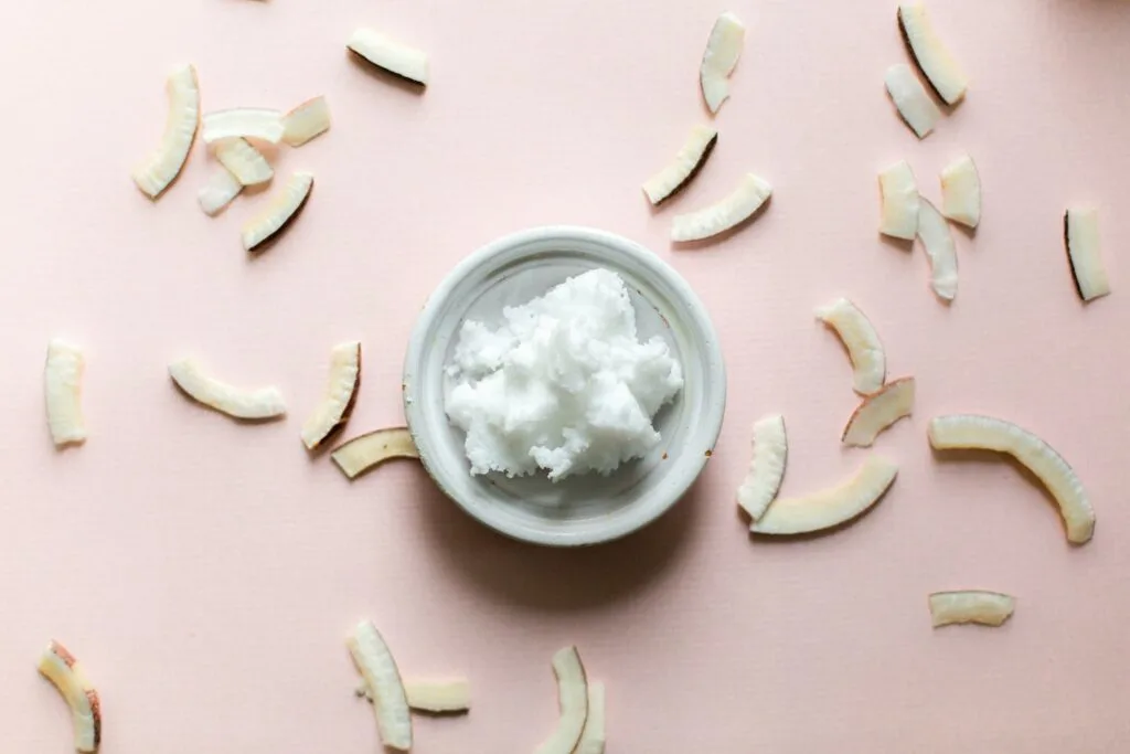
[[1067, 538], [1077, 545], [1095, 534], [1095, 511], [1075, 470], [1046, 442], [1019, 426], [989, 416], [953, 414], [930, 419], [935, 450], [974, 449], [1008, 453], [1048, 487], [1067, 526]]

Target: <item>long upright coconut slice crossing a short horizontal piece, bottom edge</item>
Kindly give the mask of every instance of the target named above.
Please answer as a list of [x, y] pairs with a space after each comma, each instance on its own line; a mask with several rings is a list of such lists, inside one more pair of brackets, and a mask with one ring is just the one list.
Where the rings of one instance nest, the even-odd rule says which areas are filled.
[[381, 743], [388, 748], [407, 752], [412, 747], [412, 717], [400, 670], [389, 645], [370, 621], [357, 624], [346, 645], [372, 693]]

